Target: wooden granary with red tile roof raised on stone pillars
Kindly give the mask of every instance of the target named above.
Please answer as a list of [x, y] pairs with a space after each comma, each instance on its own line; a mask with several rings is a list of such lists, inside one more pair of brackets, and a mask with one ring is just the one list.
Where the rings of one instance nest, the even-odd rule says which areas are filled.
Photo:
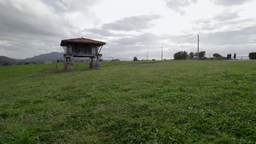
[[[66, 58], [64, 65], [65, 70], [72, 70], [73, 63], [71, 62], [71, 57], [89, 57], [91, 58], [90, 69], [100, 69], [101, 63], [98, 61], [102, 57], [100, 54], [102, 46], [106, 43], [102, 41], [85, 39], [85, 38], [76, 38], [76, 39], [64, 39], [61, 40], [60, 44], [65, 50], [63, 55]], [[93, 59], [96, 58], [96, 63]]]

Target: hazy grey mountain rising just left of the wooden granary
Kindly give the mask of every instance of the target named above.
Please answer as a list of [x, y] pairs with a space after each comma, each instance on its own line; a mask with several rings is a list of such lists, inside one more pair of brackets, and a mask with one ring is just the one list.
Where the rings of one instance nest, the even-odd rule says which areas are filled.
[[56, 62], [57, 59], [63, 59], [63, 54], [64, 54], [64, 52], [50, 52], [50, 53], [45, 53], [42, 55], [34, 56], [31, 58], [26, 58], [23, 61], [26, 61], [26, 62], [36, 62], [36, 61]]

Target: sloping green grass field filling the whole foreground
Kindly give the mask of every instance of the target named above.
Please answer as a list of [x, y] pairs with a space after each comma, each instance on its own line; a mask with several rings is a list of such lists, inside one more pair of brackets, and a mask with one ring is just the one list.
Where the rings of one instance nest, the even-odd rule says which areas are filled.
[[256, 61], [0, 67], [0, 143], [255, 143]]

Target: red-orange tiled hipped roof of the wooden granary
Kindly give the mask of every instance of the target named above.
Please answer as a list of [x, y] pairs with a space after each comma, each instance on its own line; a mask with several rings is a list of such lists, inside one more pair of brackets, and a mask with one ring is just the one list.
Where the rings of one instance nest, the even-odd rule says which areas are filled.
[[106, 43], [102, 41], [85, 39], [85, 38], [76, 38], [76, 39], [63, 39], [61, 40], [61, 46], [66, 46], [66, 43], [83, 43], [83, 44], [97, 44], [97, 45], [105, 45]]

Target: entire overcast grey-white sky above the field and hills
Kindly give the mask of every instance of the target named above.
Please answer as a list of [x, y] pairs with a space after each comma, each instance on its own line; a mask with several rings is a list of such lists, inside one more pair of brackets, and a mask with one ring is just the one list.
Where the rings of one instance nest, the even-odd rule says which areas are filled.
[[64, 52], [62, 39], [104, 41], [103, 57], [171, 59], [177, 51], [256, 51], [253, 0], [0, 0], [0, 55]]

